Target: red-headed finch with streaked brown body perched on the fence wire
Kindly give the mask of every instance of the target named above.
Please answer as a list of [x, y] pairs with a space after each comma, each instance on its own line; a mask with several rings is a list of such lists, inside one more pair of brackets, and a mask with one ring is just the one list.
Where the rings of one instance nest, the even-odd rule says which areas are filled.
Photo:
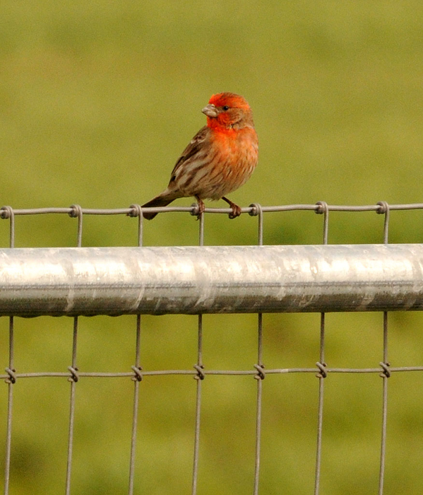
[[[167, 206], [174, 199], [193, 196], [199, 214], [205, 208], [203, 199], [223, 199], [232, 208], [230, 219], [241, 214], [241, 208], [225, 196], [241, 187], [257, 164], [258, 141], [251, 108], [240, 95], [218, 93], [201, 111], [207, 116], [207, 125], [182, 152], [167, 189], [143, 208]], [[148, 220], [156, 215], [143, 212]]]

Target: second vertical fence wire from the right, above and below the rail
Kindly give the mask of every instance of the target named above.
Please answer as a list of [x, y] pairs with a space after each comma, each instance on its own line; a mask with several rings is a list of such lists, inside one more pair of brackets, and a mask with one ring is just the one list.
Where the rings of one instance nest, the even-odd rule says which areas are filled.
[[[325, 202], [318, 202], [317, 214], [323, 214], [323, 244], [328, 244], [329, 209]], [[318, 377], [318, 419], [317, 419], [317, 441], [316, 441], [316, 472], [314, 476], [314, 495], [320, 491], [321, 474], [321, 443], [323, 431], [323, 392], [324, 380], [326, 378], [325, 362], [325, 313], [320, 315], [320, 352], [319, 361], [316, 363], [319, 373]]]

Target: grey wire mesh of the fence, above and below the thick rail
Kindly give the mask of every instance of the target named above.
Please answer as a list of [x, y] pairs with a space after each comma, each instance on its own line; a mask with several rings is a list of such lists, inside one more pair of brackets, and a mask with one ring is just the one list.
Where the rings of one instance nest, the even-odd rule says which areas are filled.
[[[283, 211], [311, 211], [316, 214], [323, 215], [323, 233], [322, 243], [328, 243], [328, 227], [329, 227], [329, 213], [330, 211], [374, 211], [376, 214], [381, 214], [384, 217], [383, 229], [381, 230], [381, 243], [388, 243], [388, 229], [390, 221], [391, 211], [405, 211], [405, 210], [423, 210], [423, 204], [388, 204], [386, 202], [379, 202], [375, 205], [365, 206], [334, 206], [328, 205], [325, 202], [318, 202], [317, 204], [291, 204], [284, 206], [261, 206], [259, 204], [251, 204], [247, 208], [242, 209], [243, 214], [249, 214], [251, 217], [258, 217], [258, 236], [257, 245], [263, 245], [263, 216], [270, 212], [283, 212]], [[189, 212], [192, 215], [196, 215], [196, 206], [191, 208], [184, 207], [167, 207], [160, 209], [153, 209], [154, 211], [165, 212]], [[205, 214], [228, 214], [230, 209], [205, 209]], [[138, 221], [138, 246], [143, 245], [143, 217], [141, 206], [131, 205], [128, 209], [84, 209], [78, 205], [72, 205], [69, 208], [43, 208], [43, 209], [13, 209], [10, 206], [4, 206], [0, 210], [0, 218], [10, 223], [10, 248], [15, 247], [15, 218], [16, 216], [25, 215], [44, 215], [44, 214], [64, 214], [71, 216], [78, 222], [76, 243], [77, 247], [83, 245], [83, 219], [88, 215], [126, 215], [133, 217]], [[198, 245], [204, 244], [204, 214], [198, 217]], [[263, 315], [258, 313], [257, 315], [257, 349], [256, 349], [256, 362], [252, 364], [250, 369], [235, 370], [235, 369], [223, 369], [213, 370], [208, 369], [205, 366], [203, 359], [203, 315], [198, 315], [197, 323], [197, 360], [193, 369], [162, 369], [151, 371], [144, 369], [141, 359], [141, 332], [142, 332], [142, 316], [136, 315], [136, 321], [134, 322], [136, 339], [134, 349], [134, 359], [131, 370], [127, 372], [85, 372], [78, 368], [78, 331], [79, 331], [79, 318], [78, 316], [73, 318], [73, 344], [71, 350], [71, 363], [67, 368], [67, 371], [57, 372], [28, 372], [21, 373], [15, 366], [15, 322], [16, 318], [9, 317], [8, 324], [8, 363], [6, 366], [6, 374], [0, 375], [6, 384], [8, 385], [7, 395], [7, 419], [6, 419], [6, 455], [4, 458], [4, 493], [9, 494], [10, 479], [11, 479], [11, 452], [13, 449], [13, 421], [15, 421], [14, 405], [13, 405], [13, 389], [16, 383], [25, 378], [52, 378], [61, 377], [66, 378], [70, 383], [70, 397], [68, 402], [69, 414], [68, 414], [68, 441], [67, 441], [67, 466], [66, 466], [66, 479], [65, 493], [71, 494], [71, 482], [73, 475], [73, 458], [78, 455], [74, 451], [74, 430], [75, 430], [75, 417], [76, 407], [78, 401], [76, 400], [76, 390], [78, 383], [81, 379], [85, 378], [126, 378], [133, 381], [133, 406], [132, 406], [132, 428], [131, 428], [131, 443], [128, 445], [129, 455], [129, 477], [128, 477], [128, 494], [131, 495], [136, 492], [135, 479], [136, 479], [136, 450], [142, 448], [137, 442], [138, 433], [138, 415], [140, 409], [140, 394], [141, 384], [144, 378], [153, 377], [158, 375], [188, 375], [196, 380], [196, 402], [193, 405], [195, 409], [194, 421], [193, 421], [193, 465], [192, 465], [192, 484], [191, 494], [198, 493], [198, 472], [199, 472], [199, 460], [200, 460], [200, 443], [201, 443], [201, 414], [202, 414], [202, 392], [203, 381], [210, 375], [250, 375], [256, 380], [256, 428], [255, 428], [255, 462], [254, 466], [251, 466], [251, 470], [254, 472], [254, 483], [251, 490], [256, 495], [260, 493], [260, 472], [261, 472], [261, 426], [262, 426], [262, 404], [263, 404], [263, 380], [268, 375], [283, 375], [285, 373], [311, 373], [318, 378], [318, 402], [317, 402], [317, 427], [316, 427], [316, 455], [315, 455], [315, 474], [314, 474], [314, 494], [317, 495], [321, 492], [321, 470], [322, 470], [322, 444], [323, 444], [323, 419], [324, 419], [324, 391], [325, 381], [329, 375], [334, 373], [376, 373], [379, 374], [382, 379], [381, 386], [381, 433], [380, 433], [380, 455], [379, 455], [379, 495], [384, 493], [385, 482], [385, 464], [386, 464], [386, 438], [387, 438], [387, 417], [388, 417], [388, 378], [393, 373], [405, 373], [423, 371], [423, 366], [401, 366], [393, 367], [388, 361], [388, 313], [383, 312], [383, 347], [381, 351], [381, 361], [378, 366], [373, 368], [331, 368], [326, 364], [325, 359], [325, 337], [326, 337], [326, 314], [320, 315], [320, 351], [318, 355], [318, 361], [314, 367], [309, 368], [267, 368], [265, 366], [265, 356], [263, 356]], [[264, 385], [266, 386], [266, 385]]]

